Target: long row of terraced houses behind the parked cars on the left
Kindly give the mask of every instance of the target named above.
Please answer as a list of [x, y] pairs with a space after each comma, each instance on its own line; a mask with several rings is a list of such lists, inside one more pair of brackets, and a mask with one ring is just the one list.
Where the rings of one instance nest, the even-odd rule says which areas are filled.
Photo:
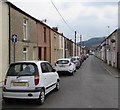
[[[14, 35], [16, 43], [12, 42]], [[54, 64], [59, 58], [80, 55], [80, 50], [58, 28], [49, 27], [10, 2], [0, 2], [0, 82], [14, 61], [39, 59]]]

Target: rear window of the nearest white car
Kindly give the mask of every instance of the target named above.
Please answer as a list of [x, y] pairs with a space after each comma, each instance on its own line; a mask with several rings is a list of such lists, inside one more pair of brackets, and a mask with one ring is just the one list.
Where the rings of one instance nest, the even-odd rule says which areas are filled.
[[11, 64], [7, 76], [32, 76], [38, 73], [37, 65], [34, 63]]

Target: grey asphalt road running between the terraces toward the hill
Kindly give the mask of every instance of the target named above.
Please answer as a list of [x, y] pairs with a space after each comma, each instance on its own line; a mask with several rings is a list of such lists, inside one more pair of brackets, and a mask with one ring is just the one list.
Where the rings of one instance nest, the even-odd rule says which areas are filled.
[[118, 78], [96, 57], [90, 56], [74, 76], [60, 78], [60, 90], [48, 94], [44, 105], [22, 100], [3, 102], [3, 108], [118, 108]]

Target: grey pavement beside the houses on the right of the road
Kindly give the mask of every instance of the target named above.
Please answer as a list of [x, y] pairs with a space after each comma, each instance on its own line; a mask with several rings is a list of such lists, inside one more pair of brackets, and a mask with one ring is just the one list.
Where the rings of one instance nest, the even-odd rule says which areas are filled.
[[115, 77], [115, 78], [120, 78], [120, 70], [118, 70], [117, 68], [115, 67], [112, 67], [110, 65], [108, 65], [107, 63], [103, 62], [102, 60], [100, 60], [101, 62], [101, 65], [104, 67], [104, 69], [106, 71], [109, 72], [109, 74], [112, 76], [112, 77]]

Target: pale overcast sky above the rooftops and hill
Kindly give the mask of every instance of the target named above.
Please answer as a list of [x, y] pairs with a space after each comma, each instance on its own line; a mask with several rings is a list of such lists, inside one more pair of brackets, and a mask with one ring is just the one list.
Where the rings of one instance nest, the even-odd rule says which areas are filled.
[[77, 41], [80, 35], [83, 36], [82, 40], [107, 36], [118, 27], [119, 0], [52, 0], [67, 25], [51, 0], [9, 1], [39, 20], [47, 19], [46, 24], [57, 26], [59, 32], [69, 39], [74, 40], [76, 31]]

